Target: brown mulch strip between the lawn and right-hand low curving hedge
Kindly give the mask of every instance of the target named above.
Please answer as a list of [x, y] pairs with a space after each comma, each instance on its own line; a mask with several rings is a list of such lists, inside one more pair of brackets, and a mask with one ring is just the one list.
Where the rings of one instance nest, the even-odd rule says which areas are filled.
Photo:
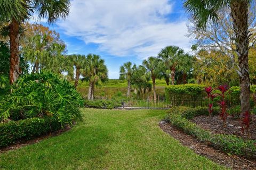
[[191, 135], [187, 135], [185, 132], [165, 121], [159, 122], [159, 126], [164, 132], [179, 140], [182, 145], [194, 150], [196, 154], [205, 156], [222, 166], [232, 169], [256, 169], [256, 160], [248, 160], [238, 156], [228, 156], [222, 151], [207, 146], [204, 142], [198, 141]]

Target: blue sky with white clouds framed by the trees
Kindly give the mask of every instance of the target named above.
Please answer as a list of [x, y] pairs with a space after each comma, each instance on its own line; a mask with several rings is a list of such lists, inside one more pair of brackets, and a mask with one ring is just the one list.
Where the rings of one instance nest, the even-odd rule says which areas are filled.
[[113, 79], [124, 62], [141, 64], [167, 45], [188, 51], [186, 24], [180, 0], [73, 0], [68, 18], [47, 26], [60, 33], [68, 54], [100, 55]]

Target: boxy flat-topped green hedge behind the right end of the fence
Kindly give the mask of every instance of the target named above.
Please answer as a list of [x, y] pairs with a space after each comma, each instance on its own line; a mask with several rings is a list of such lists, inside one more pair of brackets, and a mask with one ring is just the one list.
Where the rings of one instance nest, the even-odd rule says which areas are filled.
[[171, 85], [165, 88], [165, 98], [172, 100], [197, 100], [202, 99], [206, 94], [205, 85], [202, 84], [180, 84]]

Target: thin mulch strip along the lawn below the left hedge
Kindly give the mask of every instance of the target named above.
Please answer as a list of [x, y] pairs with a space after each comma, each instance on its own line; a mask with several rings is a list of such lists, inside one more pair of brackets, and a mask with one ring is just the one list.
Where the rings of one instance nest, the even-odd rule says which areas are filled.
[[5, 148], [0, 148], [0, 153], [1, 152], [6, 152], [8, 150], [13, 150], [13, 149], [18, 149], [18, 148], [21, 148], [21, 147], [25, 147], [27, 145], [32, 145], [34, 143], [38, 143], [38, 142], [40, 142], [44, 139], [50, 138], [50, 137], [56, 137], [56, 136], [60, 135], [61, 133], [66, 132], [70, 129], [71, 129], [70, 126], [66, 126], [64, 129], [52, 132], [51, 134], [45, 134], [45, 135], [42, 135], [41, 137], [31, 139], [31, 140], [19, 141], [19, 142], [15, 143], [14, 145], [7, 146]]

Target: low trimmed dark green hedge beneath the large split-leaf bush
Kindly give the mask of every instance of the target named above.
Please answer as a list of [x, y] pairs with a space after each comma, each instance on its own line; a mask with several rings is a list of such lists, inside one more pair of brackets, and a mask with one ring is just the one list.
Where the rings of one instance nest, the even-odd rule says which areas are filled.
[[28, 118], [20, 121], [0, 123], [0, 148], [13, 143], [29, 140], [61, 129], [53, 118]]

